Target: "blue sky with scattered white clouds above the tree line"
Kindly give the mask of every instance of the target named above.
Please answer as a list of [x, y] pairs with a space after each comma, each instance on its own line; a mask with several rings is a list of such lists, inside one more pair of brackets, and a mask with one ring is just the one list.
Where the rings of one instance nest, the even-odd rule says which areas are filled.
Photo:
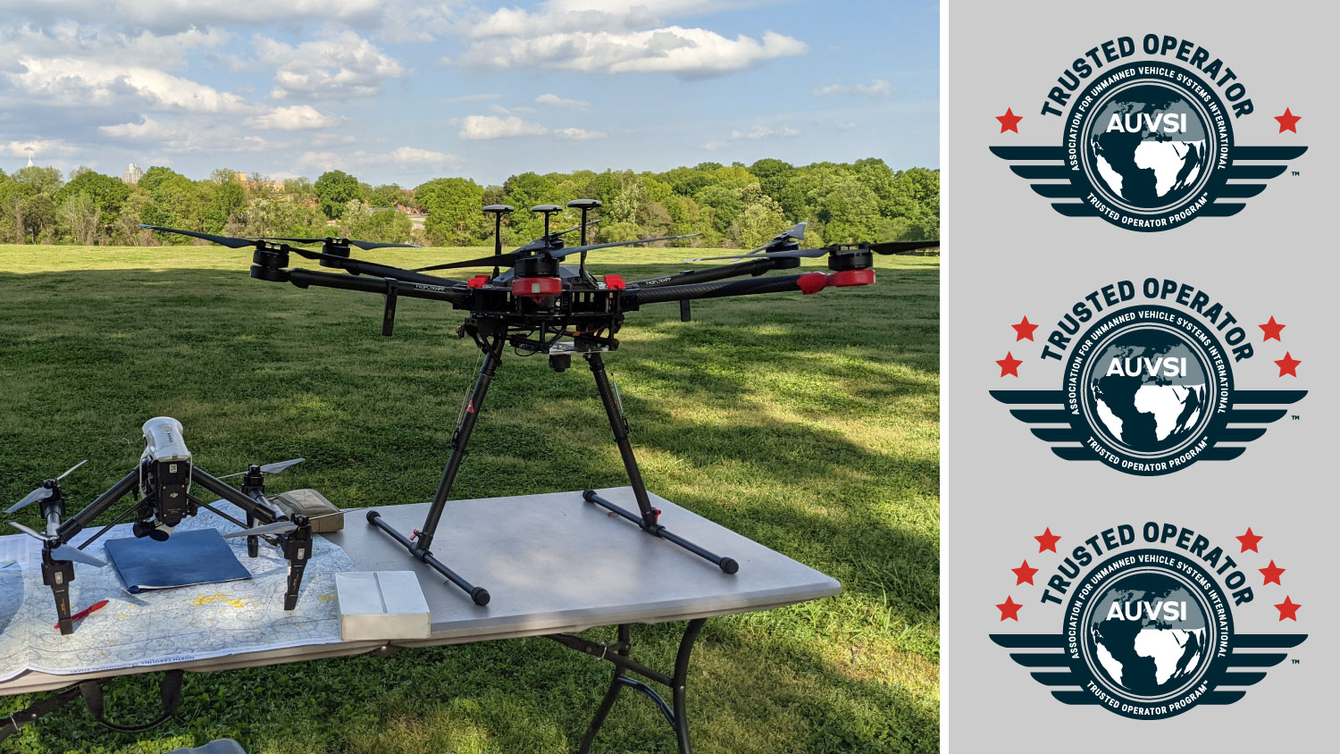
[[935, 3], [0, 0], [0, 167], [939, 166]]

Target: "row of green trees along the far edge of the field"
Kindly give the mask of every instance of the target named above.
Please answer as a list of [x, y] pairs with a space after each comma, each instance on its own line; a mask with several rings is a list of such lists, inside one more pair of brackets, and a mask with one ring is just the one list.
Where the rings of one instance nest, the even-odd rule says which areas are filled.
[[[229, 169], [193, 181], [154, 166], [138, 183], [79, 167], [0, 170], [0, 242], [151, 245], [190, 238], [153, 233], [139, 224], [226, 236], [340, 236], [370, 241], [473, 246], [492, 244], [484, 205], [507, 204], [507, 245], [543, 233], [529, 208], [572, 198], [603, 202], [598, 241], [697, 233], [682, 246], [754, 248], [792, 222], [808, 221], [807, 245], [895, 241], [939, 236], [939, 171], [892, 170], [882, 159], [793, 166], [704, 162], [665, 173], [521, 173], [501, 186], [469, 178], [434, 178], [413, 189], [371, 186], [342, 170], [316, 181], [269, 181]], [[415, 226], [410, 214], [426, 216]], [[564, 210], [555, 229], [576, 224]]]

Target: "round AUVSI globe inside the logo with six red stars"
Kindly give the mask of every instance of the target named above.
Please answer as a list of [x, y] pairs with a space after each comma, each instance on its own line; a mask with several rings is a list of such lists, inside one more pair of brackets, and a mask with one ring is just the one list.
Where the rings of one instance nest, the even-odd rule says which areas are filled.
[[1206, 608], [1178, 579], [1120, 577], [1095, 600], [1084, 627], [1091, 667], [1114, 688], [1154, 699], [1195, 683], [1213, 656]]

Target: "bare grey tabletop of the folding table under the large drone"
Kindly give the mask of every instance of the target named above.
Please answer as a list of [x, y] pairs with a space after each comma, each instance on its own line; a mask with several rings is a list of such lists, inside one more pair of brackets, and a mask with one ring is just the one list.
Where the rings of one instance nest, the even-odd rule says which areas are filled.
[[[598, 490], [636, 509], [631, 487]], [[433, 612], [430, 639], [398, 647], [460, 644], [584, 631], [618, 623], [665, 623], [770, 609], [836, 595], [842, 585], [795, 560], [714, 524], [659, 496], [651, 504], [677, 534], [740, 562], [728, 576], [716, 565], [623, 518], [588, 504], [580, 492], [544, 493], [446, 504], [433, 554], [489, 589], [486, 607], [367, 522], [366, 510], [344, 517], [344, 530], [320, 534], [344, 548], [359, 571], [413, 571]], [[427, 504], [378, 508], [409, 534], [423, 524]], [[122, 668], [88, 675], [29, 672], [0, 684], [0, 695], [62, 688], [88, 678], [185, 668], [196, 672], [366, 654], [386, 642], [344, 642], [245, 652], [189, 663]]]

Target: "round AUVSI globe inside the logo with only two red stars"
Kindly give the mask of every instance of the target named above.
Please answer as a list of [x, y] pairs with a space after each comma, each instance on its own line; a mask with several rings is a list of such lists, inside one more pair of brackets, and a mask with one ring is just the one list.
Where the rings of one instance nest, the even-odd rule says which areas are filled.
[[1177, 205], [1209, 173], [1213, 145], [1187, 98], [1159, 84], [1118, 91], [1089, 121], [1089, 178], [1135, 209]]

